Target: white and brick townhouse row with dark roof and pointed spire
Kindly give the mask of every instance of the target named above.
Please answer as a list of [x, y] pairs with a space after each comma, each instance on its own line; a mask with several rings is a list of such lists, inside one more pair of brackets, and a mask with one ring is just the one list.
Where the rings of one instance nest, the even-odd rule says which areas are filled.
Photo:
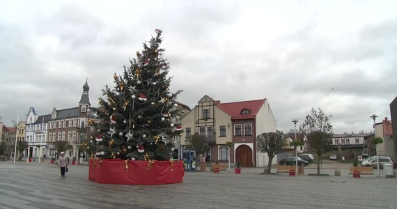
[[[89, 86], [83, 86], [79, 106], [69, 109], [52, 109], [51, 114], [38, 116], [33, 107], [26, 118], [26, 141], [31, 157], [55, 157], [55, 141], [68, 141], [72, 148], [65, 150], [68, 157], [78, 159], [81, 143], [91, 136], [90, 120], [95, 120], [97, 108], [91, 107]], [[87, 156], [88, 157], [88, 156]]]

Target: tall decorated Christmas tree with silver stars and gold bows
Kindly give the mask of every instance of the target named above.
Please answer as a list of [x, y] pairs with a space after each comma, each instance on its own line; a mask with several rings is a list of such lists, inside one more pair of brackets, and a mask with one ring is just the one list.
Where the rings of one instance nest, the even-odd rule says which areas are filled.
[[173, 139], [182, 132], [176, 102], [181, 91], [170, 92], [170, 66], [163, 58], [161, 43], [162, 30], [156, 29], [130, 66], [124, 66], [123, 75], [114, 74], [113, 88], [106, 85], [103, 89], [93, 123], [96, 157], [172, 159]]

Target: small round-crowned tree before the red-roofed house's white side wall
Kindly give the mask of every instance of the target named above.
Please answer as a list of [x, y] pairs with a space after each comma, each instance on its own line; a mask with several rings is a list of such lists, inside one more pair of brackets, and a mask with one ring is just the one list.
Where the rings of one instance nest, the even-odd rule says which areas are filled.
[[256, 148], [262, 153], [267, 153], [269, 157], [267, 169], [263, 169], [263, 173], [270, 173], [270, 169], [272, 169], [272, 160], [274, 156], [281, 151], [284, 145], [283, 135], [279, 132], [263, 133], [256, 137]]

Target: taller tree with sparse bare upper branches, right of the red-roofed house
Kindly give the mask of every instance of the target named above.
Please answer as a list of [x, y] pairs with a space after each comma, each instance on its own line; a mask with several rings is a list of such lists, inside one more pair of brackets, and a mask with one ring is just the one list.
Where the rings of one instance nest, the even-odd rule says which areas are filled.
[[320, 175], [320, 159], [324, 153], [332, 150], [332, 125], [329, 120], [332, 115], [326, 116], [322, 109], [311, 109], [299, 130], [306, 135], [309, 149], [317, 153], [317, 175]]

